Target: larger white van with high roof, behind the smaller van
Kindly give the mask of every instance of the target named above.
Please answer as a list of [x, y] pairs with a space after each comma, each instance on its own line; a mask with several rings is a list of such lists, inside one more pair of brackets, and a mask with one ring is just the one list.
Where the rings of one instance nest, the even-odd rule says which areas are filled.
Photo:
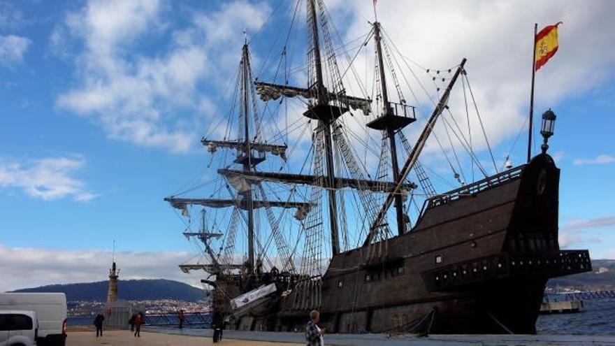
[[66, 344], [64, 293], [0, 293], [0, 310], [29, 310], [38, 317], [37, 345]]

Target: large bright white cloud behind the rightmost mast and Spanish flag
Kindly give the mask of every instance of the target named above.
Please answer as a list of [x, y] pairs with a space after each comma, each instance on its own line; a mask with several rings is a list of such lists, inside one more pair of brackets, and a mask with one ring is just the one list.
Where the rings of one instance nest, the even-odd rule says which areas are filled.
[[[345, 41], [365, 34], [367, 20], [372, 20], [373, 9], [370, 1], [345, 1], [328, 3], [333, 17], [352, 17], [345, 25]], [[532, 10], [528, 12], [528, 8]], [[612, 77], [615, 65], [615, 47], [602, 42], [615, 41], [611, 13], [615, 11], [612, 1], [592, 1], [579, 7], [574, 1], [380, 1], [377, 6], [378, 19], [386, 34], [407, 57], [431, 69], [448, 69], [458, 64], [462, 57], [468, 57], [466, 70], [472, 82], [472, 92], [477, 99], [482, 120], [492, 147], [519, 133], [527, 115], [533, 24], [539, 29], [547, 24], [563, 21], [559, 27], [560, 47], [557, 54], [536, 75], [535, 113], [556, 107], [558, 102], [569, 96], [586, 92]], [[340, 15], [341, 13], [341, 15]], [[338, 22], [338, 27], [342, 27]], [[368, 56], [371, 52], [368, 52]], [[359, 75], [368, 75], [373, 68], [371, 58], [366, 64], [359, 55], [356, 66]], [[419, 104], [429, 104], [412, 74], [402, 64], [398, 77], [407, 75]], [[410, 63], [419, 75], [423, 69]], [[445, 73], [448, 77], [448, 73]], [[431, 80], [422, 80], [429, 91], [433, 90]], [[405, 96], [410, 103], [417, 103], [405, 87]], [[369, 85], [369, 83], [368, 83]], [[395, 94], [391, 85], [389, 94]], [[449, 105], [457, 117], [463, 132], [465, 109], [458, 82]], [[470, 107], [471, 104], [470, 104]], [[429, 107], [431, 108], [431, 106]], [[425, 117], [425, 114], [421, 114]], [[449, 120], [450, 121], [450, 120]], [[565, 124], [564, 122], [568, 122]], [[475, 148], [485, 149], [477, 119], [471, 120]], [[561, 126], [570, 126], [570, 120], [560, 120]], [[440, 127], [442, 125], [440, 124]], [[416, 138], [421, 123], [409, 128], [409, 138]], [[440, 140], [447, 143], [446, 134], [436, 131]], [[456, 140], [453, 140], [455, 143]], [[431, 143], [431, 149], [435, 149]], [[461, 147], [461, 145], [457, 145]], [[513, 161], [524, 161], [523, 144], [516, 145], [517, 157]], [[429, 148], [428, 148], [429, 149]], [[507, 150], [508, 147], [502, 148]], [[554, 148], [556, 149], [556, 148]], [[436, 150], [437, 151], [437, 150]], [[496, 158], [507, 153], [495, 153]]]

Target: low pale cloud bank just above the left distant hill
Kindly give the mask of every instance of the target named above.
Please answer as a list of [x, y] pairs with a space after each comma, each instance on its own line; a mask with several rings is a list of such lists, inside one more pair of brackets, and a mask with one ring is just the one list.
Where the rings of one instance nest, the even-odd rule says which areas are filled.
[[[202, 275], [187, 275], [178, 264], [187, 252], [115, 252], [120, 280], [165, 278], [201, 285]], [[107, 280], [112, 253], [108, 250], [55, 250], [0, 244], [0, 291]]]

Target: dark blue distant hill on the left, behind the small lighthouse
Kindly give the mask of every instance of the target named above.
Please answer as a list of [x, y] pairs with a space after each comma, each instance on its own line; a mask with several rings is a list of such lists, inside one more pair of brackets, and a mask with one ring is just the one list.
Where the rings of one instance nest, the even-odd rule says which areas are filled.
[[[50, 284], [18, 289], [15, 292], [63, 292], [68, 301], [106, 301], [108, 288], [108, 281], [99, 281], [80, 284]], [[205, 298], [205, 291], [173, 280], [120, 280], [117, 296], [126, 301], [154, 299], [198, 301]]]

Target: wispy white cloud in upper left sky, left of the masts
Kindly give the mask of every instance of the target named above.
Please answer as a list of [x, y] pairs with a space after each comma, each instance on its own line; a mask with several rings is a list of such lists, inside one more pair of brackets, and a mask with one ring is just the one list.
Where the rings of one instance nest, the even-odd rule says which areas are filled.
[[[194, 115], [205, 104], [198, 96], [203, 78], [219, 75], [220, 64], [235, 64], [239, 58], [236, 52], [225, 59], [228, 47], [215, 44], [241, 35], [236, 28], [260, 27], [269, 7], [234, 1], [210, 13], [192, 13], [189, 24], [178, 29], [166, 17], [171, 9], [162, 5], [90, 0], [68, 13], [52, 43], [66, 47], [70, 43], [64, 37], [69, 36], [83, 44], [73, 56], [79, 82], [56, 103], [93, 118], [111, 138], [187, 152], [203, 128], [202, 117]], [[156, 52], [140, 49], [147, 39], [162, 42]]]

